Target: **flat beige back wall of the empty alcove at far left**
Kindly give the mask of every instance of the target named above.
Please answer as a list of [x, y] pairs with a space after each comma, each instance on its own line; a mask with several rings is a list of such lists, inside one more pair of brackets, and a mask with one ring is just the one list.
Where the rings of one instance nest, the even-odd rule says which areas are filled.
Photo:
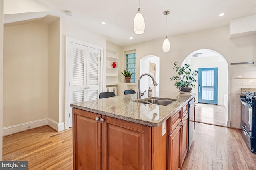
[[4, 27], [3, 83], [3, 127], [48, 117], [47, 24]]

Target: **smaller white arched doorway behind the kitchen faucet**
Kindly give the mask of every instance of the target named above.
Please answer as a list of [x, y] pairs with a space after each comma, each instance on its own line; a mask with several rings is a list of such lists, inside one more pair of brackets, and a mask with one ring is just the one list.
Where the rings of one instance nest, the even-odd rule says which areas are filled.
[[[155, 66], [155, 80], [158, 83], [158, 86], [155, 86], [155, 90], [159, 91], [159, 75], [160, 75], [160, 58], [155, 55], [147, 55], [140, 59], [140, 75], [144, 73], [149, 73], [152, 69], [152, 65]], [[151, 78], [148, 76], [143, 76], [140, 81], [140, 89], [141, 92], [144, 92], [145, 90], [148, 90], [148, 87], [150, 85]]]

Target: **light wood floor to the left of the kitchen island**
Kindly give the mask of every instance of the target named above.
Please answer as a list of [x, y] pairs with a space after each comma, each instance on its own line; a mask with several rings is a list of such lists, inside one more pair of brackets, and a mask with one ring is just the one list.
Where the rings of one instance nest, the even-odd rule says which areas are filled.
[[28, 161], [28, 170], [72, 170], [72, 128], [48, 126], [3, 137], [3, 160]]

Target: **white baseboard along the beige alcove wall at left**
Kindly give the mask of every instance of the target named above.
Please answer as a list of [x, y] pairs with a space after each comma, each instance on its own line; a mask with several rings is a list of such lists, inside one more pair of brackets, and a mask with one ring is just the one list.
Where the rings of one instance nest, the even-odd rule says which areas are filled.
[[56, 130], [57, 132], [65, 130], [64, 122], [57, 123], [56, 121], [54, 121], [50, 118], [45, 118], [45, 119], [39, 119], [36, 121], [21, 123], [18, 125], [3, 127], [3, 136], [11, 135], [11, 134], [18, 133], [21, 131], [26, 131], [29, 129], [34, 129], [36, 127], [41, 127], [41, 126], [45, 126], [45, 125], [50, 126], [52, 129]]

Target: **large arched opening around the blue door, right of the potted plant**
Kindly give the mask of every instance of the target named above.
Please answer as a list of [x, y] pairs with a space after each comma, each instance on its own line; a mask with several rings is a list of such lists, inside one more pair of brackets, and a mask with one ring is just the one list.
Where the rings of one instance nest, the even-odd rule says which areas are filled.
[[[196, 101], [198, 103], [198, 108], [203, 109], [204, 117], [198, 119], [199, 122], [209, 123], [214, 125], [227, 126], [228, 125], [228, 62], [226, 59], [218, 52], [210, 49], [200, 49], [190, 53], [182, 64], [190, 64], [192, 70], [202, 70], [207, 68], [217, 68], [218, 69], [218, 87], [217, 87], [217, 102], [216, 105], [205, 104], [200, 102], [199, 86], [198, 82], [196, 87], [193, 89], [196, 95]], [[199, 98], [199, 100], [198, 100]], [[210, 115], [212, 112], [212, 115]], [[215, 113], [214, 113], [215, 112]], [[219, 112], [219, 113], [217, 113]], [[207, 117], [207, 113], [209, 116]]]

